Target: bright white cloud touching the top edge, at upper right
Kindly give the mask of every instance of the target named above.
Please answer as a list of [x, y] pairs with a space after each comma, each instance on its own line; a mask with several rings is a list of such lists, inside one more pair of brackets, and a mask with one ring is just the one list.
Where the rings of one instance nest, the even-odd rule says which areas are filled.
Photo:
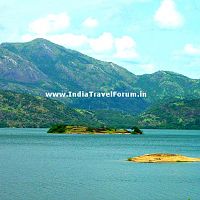
[[174, 0], [163, 0], [154, 15], [154, 20], [163, 28], [176, 28], [183, 25], [183, 17], [176, 10]]

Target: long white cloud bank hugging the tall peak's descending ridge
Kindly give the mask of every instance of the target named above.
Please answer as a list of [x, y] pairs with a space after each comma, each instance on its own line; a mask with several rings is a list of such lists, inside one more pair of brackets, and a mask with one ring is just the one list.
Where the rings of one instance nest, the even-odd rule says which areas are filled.
[[35, 38], [45, 38], [56, 44], [67, 48], [76, 49], [81, 52], [90, 52], [94, 57], [108, 58], [105, 60], [127, 60], [139, 57], [136, 51], [136, 42], [130, 36], [115, 38], [112, 33], [104, 32], [98, 37], [88, 37], [83, 34], [73, 33], [46, 33], [34, 32], [22, 36], [22, 40], [27, 42]]

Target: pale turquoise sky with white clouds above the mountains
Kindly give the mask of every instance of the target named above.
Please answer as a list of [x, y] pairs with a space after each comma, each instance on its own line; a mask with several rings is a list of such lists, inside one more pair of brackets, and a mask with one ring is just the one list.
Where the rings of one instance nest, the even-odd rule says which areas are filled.
[[199, 0], [1, 0], [0, 43], [35, 38], [134, 74], [200, 78]]

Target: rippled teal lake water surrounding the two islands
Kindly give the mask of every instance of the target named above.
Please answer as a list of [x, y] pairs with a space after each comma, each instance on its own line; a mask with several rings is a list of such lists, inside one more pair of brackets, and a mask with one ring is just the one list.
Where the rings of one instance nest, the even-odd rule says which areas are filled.
[[200, 157], [200, 131], [50, 135], [0, 129], [0, 200], [200, 200], [200, 163], [141, 164], [128, 157]]

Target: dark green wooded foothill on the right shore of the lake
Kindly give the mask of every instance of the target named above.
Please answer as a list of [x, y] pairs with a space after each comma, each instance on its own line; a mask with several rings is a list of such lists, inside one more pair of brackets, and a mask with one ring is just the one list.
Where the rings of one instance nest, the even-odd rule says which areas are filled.
[[154, 105], [135, 123], [145, 128], [200, 129], [200, 99]]

